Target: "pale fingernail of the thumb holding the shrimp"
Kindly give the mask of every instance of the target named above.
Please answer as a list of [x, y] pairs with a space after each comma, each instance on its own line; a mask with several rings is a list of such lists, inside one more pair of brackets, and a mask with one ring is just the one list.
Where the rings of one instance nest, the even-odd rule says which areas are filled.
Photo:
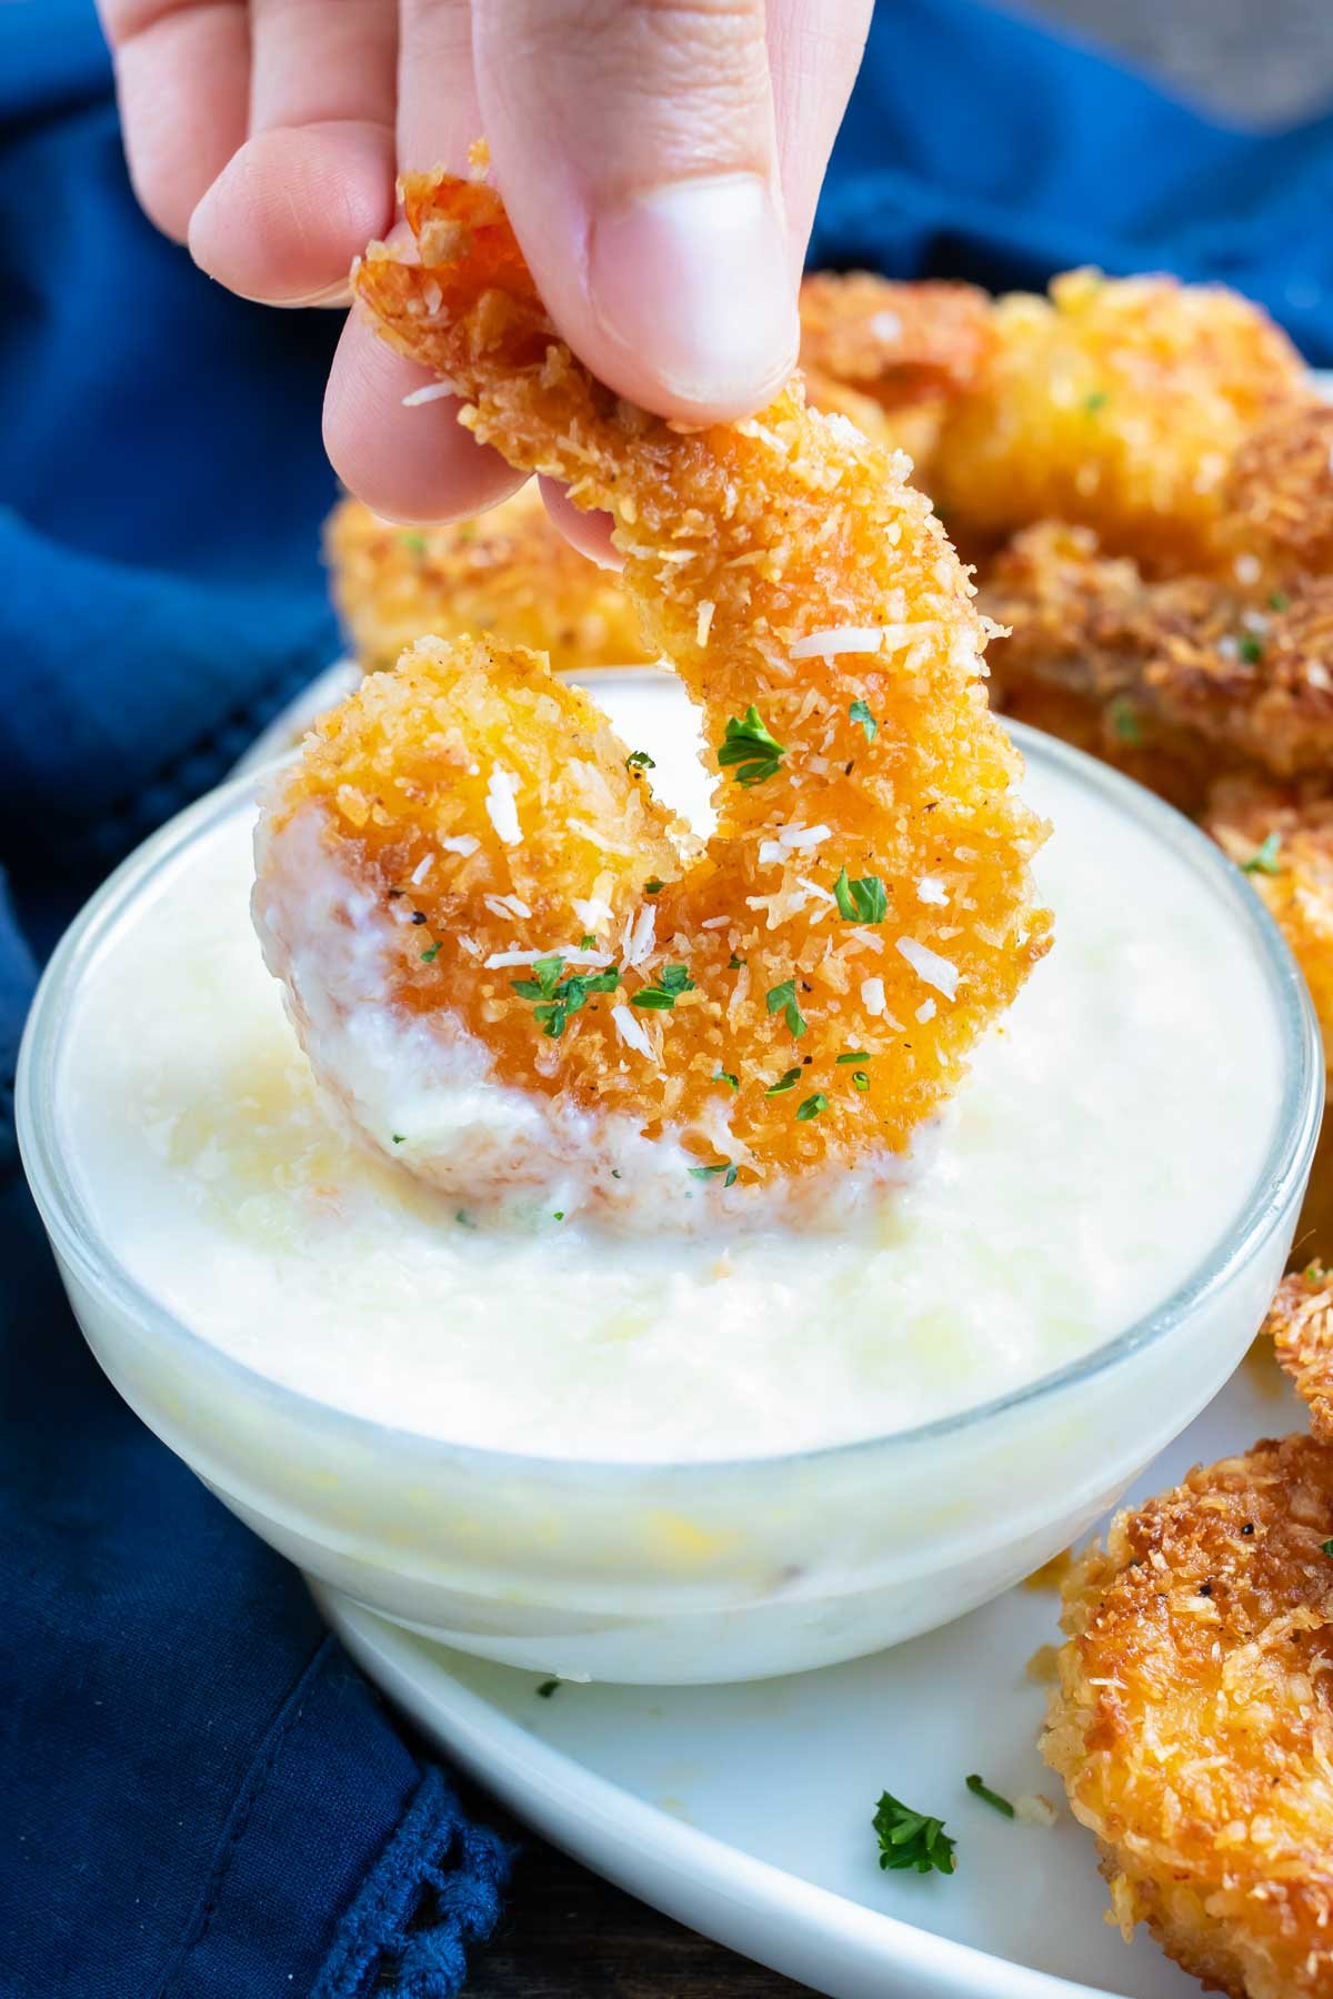
[[590, 292], [606, 334], [675, 396], [743, 410], [795, 366], [787, 240], [757, 174], [715, 174], [596, 216]]

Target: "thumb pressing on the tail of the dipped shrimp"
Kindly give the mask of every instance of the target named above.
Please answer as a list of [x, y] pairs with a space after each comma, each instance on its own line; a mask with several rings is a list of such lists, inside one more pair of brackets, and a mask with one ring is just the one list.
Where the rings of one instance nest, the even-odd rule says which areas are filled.
[[612, 388], [705, 422], [795, 364], [763, 0], [476, 0], [496, 180], [556, 324]]

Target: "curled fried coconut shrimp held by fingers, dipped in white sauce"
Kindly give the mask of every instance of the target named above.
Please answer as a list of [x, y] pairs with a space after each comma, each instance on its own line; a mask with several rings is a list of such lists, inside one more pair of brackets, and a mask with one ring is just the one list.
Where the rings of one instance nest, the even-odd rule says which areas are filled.
[[472, 1201], [845, 1215], [1049, 944], [965, 574], [799, 382], [673, 428], [558, 340], [488, 186], [416, 176], [406, 210], [418, 262], [372, 246], [364, 306], [478, 438], [614, 516], [701, 708], [717, 828], [695, 852], [546, 662], [418, 648], [264, 816], [256, 918], [310, 1059]]

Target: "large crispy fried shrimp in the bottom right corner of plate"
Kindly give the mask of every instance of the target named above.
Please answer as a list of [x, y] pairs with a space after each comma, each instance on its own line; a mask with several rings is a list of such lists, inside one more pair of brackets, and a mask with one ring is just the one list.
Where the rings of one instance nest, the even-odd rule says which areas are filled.
[[1043, 1755], [1209, 1991], [1333, 1991], [1333, 1447], [1257, 1443], [1121, 1513], [1065, 1585]]

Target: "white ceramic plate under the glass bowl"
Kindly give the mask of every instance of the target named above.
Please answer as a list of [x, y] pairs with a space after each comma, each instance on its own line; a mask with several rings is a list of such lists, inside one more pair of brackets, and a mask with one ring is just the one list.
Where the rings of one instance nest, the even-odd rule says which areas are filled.
[[[1133, 1487], [1305, 1427], [1265, 1353]], [[1057, 1637], [1051, 1589], [853, 1665], [741, 1687], [592, 1687], [446, 1651], [318, 1591], [352, 1655], [474, 1777], [556, 1845], [667, 1915], [837, 1999], [1197, 1999], [1145, 1935], [1129, 1947], [1091, 1835], [1035, 1737], [1025, 1675]], [[1011, 1823], [963, 1785], [977, 1771], [1059, 1805]], [[879, 1791], [937, 1813], [957, 1871], [881, 1873]]]

